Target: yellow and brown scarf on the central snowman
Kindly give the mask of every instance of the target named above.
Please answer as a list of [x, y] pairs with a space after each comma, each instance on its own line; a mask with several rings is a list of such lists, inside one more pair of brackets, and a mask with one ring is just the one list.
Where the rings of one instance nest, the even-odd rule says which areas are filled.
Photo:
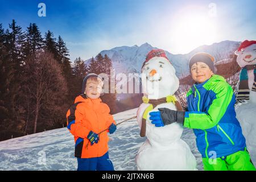
[[179, 101], [177, 101], [175, 96], [167, 96], [167, 97], [159, 98], [157, 100], [151, 100], [143, 96], [142, 101], [144, 104], [150, 104], [150, 105], [146, 107], [142, 116], [141, 134], [140, 134], [141, 137], [145, 137], [146, 135], [146, 119], [147, 119], [148, 113], [159, 104], [172, 102], [176, 106], [177, 110], [183, 110]]

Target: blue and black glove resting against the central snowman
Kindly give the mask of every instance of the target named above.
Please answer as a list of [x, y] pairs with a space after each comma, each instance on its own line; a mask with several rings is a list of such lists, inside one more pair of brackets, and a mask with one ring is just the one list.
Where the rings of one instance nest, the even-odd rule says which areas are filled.
[[159, 111], [151, 112], [150, 119], [151, 123], [156, 127], [170, 125], [171, 123], [177, 122], [184, 124], [184, 111], [171, 110], [167, 108], [159, 108]]

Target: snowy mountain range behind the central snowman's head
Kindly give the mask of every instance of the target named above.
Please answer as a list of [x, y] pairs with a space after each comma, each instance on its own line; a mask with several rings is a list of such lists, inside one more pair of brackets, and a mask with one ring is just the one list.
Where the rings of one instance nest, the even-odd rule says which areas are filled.
[[[187, 54], [174, 55], [168, 51], [167, 57], [171, 60], [174, 68], [176, 69], [176, 74], [181, 77], [183, 74], [188, 73], [188, 61], [192, 55], [196, 52], [208, 52], [213, 55], [216, 60], [226, 59], [232, 54], [239, 46], [240, 42], [234, 42], [225, 40], [219, 43], [214, 43], [210, 46], [204, 45], [200, 46]], [[152, 47], [148, 43], [144, 43], [141, 46], [122, 46], [115, 47], [110, 50], [101, 51], [101, 55], [108, 55], [113, 61], [113, 67], [115, 68], [115, 73], [141, 73], [142, 63], [146, 58], [146, 55]], [[160, 47], [159, 47], [160, 48]], [[89, 64], [91, 59], [85, 61], [85, 64]]]

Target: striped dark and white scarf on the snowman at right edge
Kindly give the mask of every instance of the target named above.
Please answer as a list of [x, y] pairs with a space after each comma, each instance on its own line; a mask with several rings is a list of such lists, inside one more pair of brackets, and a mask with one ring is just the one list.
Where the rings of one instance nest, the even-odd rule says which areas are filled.
[[242, 68], [240, 73], [240, 84], [238, 87], [237, 100], [249, 100], [250, 89], [248, 85], [248, 73], [247, 70], [253, 69], [254, 73], [254, 83], [251, 88], [252, 91], [256, 92], [256, 64], [255, 65], [247, 65]]

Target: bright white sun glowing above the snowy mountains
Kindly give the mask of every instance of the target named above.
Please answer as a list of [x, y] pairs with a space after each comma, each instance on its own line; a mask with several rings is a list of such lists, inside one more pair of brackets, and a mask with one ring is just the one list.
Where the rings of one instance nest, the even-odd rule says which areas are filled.
[[172, 27], [172, 42], [184, 53], [216, 41], [216, 23], [207, 15], [180, 16], [176, 18]]

